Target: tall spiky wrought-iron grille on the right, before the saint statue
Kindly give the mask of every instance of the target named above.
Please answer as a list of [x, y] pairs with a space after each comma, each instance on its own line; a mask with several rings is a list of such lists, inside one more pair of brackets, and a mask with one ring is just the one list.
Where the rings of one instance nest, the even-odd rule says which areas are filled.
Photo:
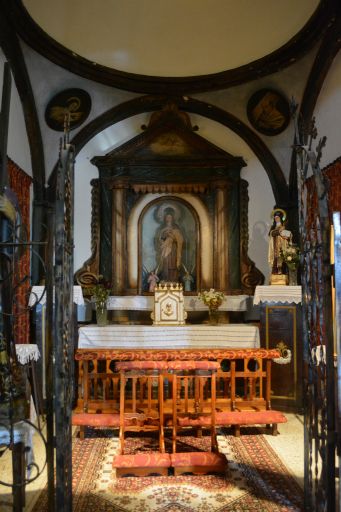
[[295, 149], [302, 270], [305, 400], [305, 509], [335, 511], [335, 379], [328, 188], [319, 162], [326, 139], [313, 148], [312, 122], [296, 117]]

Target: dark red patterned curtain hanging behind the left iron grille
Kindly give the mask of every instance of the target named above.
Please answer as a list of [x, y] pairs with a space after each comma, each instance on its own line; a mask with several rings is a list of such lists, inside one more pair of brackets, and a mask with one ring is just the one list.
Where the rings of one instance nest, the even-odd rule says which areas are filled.
[[[30, 185], [32, 178], [28, 176], [17, 164], [8, 158], [9, 186], [15, 192], [20, 213], [21, 222], [24, 226], [24, 236], [30, 239]], [[16, 282], [20, 282], [25, 276], [30, 275], [30, 248], [24, 249], [19, 260], [18, 268], [15, 269]], [[17, 315], [14, 322], [15, 343], [29, 343], [29, 314], [23, 312], [27, 307], [30, 281], [27, 280], [18, 287], [15, 297], [14, 313]]]

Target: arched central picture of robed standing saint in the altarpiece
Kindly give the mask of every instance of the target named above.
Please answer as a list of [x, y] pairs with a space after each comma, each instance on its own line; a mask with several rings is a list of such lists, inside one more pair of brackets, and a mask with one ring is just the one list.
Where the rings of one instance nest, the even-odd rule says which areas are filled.
[[199, 223], [190, 204], [170, 197], [152, 202], [141, 214], [139, 235], [143, 292], [153, 293], [160, 282], [197, 290]]

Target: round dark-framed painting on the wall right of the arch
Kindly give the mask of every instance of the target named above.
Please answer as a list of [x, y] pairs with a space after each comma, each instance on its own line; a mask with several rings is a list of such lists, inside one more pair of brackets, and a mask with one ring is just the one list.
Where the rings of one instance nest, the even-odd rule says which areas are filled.
[[247, 104], [247, 116], [251, 125], [264, 135], [278, 135], [290, 121], [287, 99], [272, 89], [255, 92]]

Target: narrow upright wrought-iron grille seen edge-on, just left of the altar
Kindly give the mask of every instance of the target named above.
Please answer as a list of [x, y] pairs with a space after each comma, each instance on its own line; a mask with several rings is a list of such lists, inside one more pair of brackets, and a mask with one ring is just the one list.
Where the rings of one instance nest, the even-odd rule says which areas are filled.
[[[53, 318], [54, 353], [54, 424], [56, 447], [55, 508], [58, 512], [72, 510], [71, 415], [74, 394], [73, 310], [73, 216], [74, 216], [74, 148], [68, 134], [60, 147], [55, 201]], [[50, 303], [51, 304], [51, 303]], [[50, 314], [51, 315], [51, 314]], [[51, 427], [50, 422], [50, 427]], [[49, 476], [50, 488], [52, 478]], [[50, 501], [52, 496], [50, 493]], [[52, 505], [52, 503], [51, 503]]]

